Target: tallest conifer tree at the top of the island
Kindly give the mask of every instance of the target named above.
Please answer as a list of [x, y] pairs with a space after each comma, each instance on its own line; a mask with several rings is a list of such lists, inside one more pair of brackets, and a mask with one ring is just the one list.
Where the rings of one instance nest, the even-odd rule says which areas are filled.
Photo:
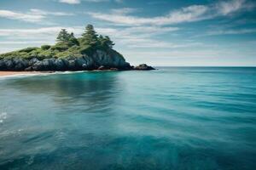
[[98, 42], [98, 35], [92, 25], [87, 25], [85, 31], [82, 34], [83, 41], [90, 45], [96, 45]]

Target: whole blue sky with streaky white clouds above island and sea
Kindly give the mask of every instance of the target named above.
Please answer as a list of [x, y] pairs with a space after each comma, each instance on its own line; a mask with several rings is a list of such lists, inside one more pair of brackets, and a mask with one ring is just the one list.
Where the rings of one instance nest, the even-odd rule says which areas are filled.
[[0, 53], [87, 24], [132, 65], [256, 65], [255, 0], [0, 0]]

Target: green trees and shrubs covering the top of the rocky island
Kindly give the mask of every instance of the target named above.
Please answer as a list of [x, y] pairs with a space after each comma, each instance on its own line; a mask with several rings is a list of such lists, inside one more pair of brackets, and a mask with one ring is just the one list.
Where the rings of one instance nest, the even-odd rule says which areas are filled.
[[74, 37], [73, 32], [68, 33], [65, 29], [62, 29], [56, 38], [55, 45], [53, 46], [42, 45], [41, 48], [24, 48], [6, 54], [0, 54], [0, 59], [80, 57], [84, 54], [90, 56], [90, 54], [94, 54], [96, 50], [102, 50], [111, 54], [114, 51], [113, 45], [114, 43], [108, 36], [98, 36], [94, 27], [92, 25], [88, 25], [85, 27], [82, 37], [76, 38]]

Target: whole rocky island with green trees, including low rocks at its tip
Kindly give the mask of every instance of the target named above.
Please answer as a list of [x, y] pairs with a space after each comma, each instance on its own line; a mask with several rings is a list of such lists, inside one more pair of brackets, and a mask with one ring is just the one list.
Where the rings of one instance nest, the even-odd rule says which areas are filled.
[[0, 54], [0, 71], [154, 70], [145, 64], [131, 66], [113, 45], [108, 36], [97, 35], [92, 25], [79, 38], [62, 29], [55, 45]]

